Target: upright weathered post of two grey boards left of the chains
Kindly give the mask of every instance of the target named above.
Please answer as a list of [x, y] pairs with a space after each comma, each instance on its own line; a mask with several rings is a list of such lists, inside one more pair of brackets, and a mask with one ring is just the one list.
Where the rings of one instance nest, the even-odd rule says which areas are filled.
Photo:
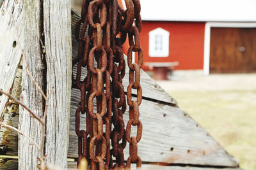
[[[29, 70], [39, 85], [49, 94], [46, 118], [45, 155], [47, 162], [67, 167], [68, 124], [71, 94], [71, 4], [70, 0], [23, 1], [24, 3], [24, 52]], [[42, 96], [23, 68], [22, 96], [24, 103], [40, 112], [44, 111]], [[41, 112], [42, 113], [42, 112]], [[22, 110], [20, 129], [38, 139], [40, 127]], [[19, 169], [35, 169], [35, 146], [20, 138]]]

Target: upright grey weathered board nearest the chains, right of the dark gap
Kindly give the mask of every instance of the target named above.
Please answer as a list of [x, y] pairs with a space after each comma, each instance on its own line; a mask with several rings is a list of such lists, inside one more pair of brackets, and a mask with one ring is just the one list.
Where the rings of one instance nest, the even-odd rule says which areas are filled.
[[47, 162], [67, 167], [71, 95], [71, 2], [44, 1], [47, 94], [54, 87], [47, 110], [45, 154]]

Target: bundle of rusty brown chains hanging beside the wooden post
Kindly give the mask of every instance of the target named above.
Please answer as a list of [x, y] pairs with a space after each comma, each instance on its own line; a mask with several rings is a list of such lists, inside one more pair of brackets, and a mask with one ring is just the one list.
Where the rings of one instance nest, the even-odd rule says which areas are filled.
[[[77, 162], [79, 164], [83, 157], [86, 158], [90, 169], [123, 169], [131, 167], [131, 162], [136, 163], [137, 167], [141, 166], [141, 159], [137, 154], [142, 134], [139, 120], [142, 101], [140, 68], [143, 64], [139, 36], [140, 1], [125, 0], [125, 5], [127, 10], [117, 0], [83, 0], [81, 19], [76, 24], [75, 36], [79, 46], [73, 66], [77, 64], [76, 86], [81, 91], [80, 106], [76, 110]], [[125, 76], [122, 44], [127, 34], [127, 61], [130, 69], [127, 88], [129, 122], [125, 130], [123, 114], [127, 106], [122, 85]], [[132, 52], [138, 52], [138, 64], [132, 64]], [[81, 81], [83, 68], [87, 69], [87, 75]], [[132, 89], [137, 90], [136, 101], [132, 101]], [[95, 108], [93, 101], [96, 103]], [[86, 114], [85, 130], [80, 129], [81, 114]], [[131, 126], [137, 126], [136, 137], [130, 137]], [[126, 142], [129, 143], [130, 155], [125, 166], [123, 150]]]

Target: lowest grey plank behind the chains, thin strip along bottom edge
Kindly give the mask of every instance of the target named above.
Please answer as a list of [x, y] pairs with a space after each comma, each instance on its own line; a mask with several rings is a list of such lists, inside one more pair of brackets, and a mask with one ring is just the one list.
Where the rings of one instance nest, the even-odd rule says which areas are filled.
[[[68, 168], [76, 168], [77, 162], [68, 162]], [[136, 169], [136, 164], [131, 165], [131, 170]], [[243, 170], [239, 167], [228, 167], [228, 168], [220, 168], [220, 167], [193, 167], [193, 166], [159, 166], [157, 164], [142, 164], [141, 170], [154, 170], [154, 169], [159, 169], [159, 170]]]

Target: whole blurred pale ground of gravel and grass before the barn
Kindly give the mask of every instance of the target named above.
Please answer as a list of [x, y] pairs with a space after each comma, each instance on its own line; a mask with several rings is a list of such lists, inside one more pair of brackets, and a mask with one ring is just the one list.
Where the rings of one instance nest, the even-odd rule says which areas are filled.
[[157, 81], [246, 170], [256, 169], [256, 74], [175, 71]]

